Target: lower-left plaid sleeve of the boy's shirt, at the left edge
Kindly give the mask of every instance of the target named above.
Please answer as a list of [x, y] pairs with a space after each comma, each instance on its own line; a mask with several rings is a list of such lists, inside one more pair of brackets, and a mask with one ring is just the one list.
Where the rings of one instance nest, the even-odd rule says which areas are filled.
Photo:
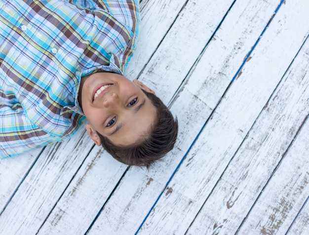
[[61, 139], [46, 133], [26, 117], [22, 109], [0, 105], [0, 159], [13, 157]]

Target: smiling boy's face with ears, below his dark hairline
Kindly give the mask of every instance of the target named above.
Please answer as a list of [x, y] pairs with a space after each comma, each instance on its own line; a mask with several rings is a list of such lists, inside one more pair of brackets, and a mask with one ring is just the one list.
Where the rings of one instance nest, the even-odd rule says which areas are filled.
[[113, 73], [95, 73], [81, 78], [78, 102], [88, 124], [86, 130], [95, 144], [97, 135], [116, 145], [131, 145], [149, 132], [155, 108], [142, 89], [154, 93], [138, 80], [133, 82]]

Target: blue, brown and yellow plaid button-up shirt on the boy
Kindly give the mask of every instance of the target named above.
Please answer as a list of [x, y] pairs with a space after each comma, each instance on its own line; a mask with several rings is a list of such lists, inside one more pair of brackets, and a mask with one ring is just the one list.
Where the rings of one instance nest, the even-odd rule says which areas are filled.
[[80, 78], [122, 74], [138, 0], [0, 0], [0, 158], [62, 141], [85, 119]]

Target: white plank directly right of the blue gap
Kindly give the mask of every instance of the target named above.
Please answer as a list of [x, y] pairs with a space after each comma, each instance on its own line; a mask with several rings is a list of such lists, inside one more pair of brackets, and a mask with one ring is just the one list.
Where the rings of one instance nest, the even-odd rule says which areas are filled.
[[308, 36], [309, 27], [304, 21], [309, 17], [304, 10], [307, 5], [303, 0], [281, 6], [241, 76], [233, 82], [168, 185], [172, 193], [163, 194], [141, 234], [186, 232]]

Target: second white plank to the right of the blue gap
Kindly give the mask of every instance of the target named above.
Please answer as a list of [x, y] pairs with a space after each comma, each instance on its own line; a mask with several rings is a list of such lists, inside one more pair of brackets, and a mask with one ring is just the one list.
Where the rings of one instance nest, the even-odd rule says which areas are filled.
[[[234, 234], [309, 113], [309, 39], [188, 234]], [[207, 233], [206, 233], [207, 231]]]

